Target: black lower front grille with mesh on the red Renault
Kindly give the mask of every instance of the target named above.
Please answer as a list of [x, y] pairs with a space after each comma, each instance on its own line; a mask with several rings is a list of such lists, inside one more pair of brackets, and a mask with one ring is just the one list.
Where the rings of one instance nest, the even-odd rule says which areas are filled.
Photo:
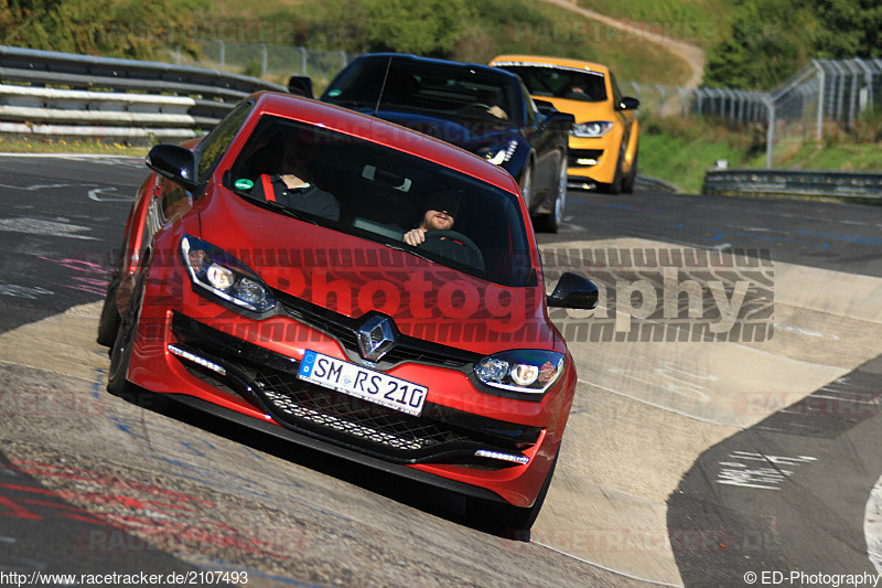
[[[490, 419], [431, 403], [420, 416], [400, 413], [297, 377], [300, 362], [175, 313], [180, 345], [227, 374], [202, 379], [238, 394], [279, 424], [375, 457], [401, 463], [439, 462], [505, 467], [475, 459], [477, 449], [519, 456], [541, 429]], [[204, 372], [184, 361], [191, 373]]]

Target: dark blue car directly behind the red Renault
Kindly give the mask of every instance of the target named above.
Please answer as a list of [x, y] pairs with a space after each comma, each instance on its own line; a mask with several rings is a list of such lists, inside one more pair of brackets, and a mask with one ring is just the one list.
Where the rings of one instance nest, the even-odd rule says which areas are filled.
[[[311, 94], [304, 78], [292, 78], [289, 88]], [[536, 228], [556, 233], [563, 220], [573, 117], [534, 101], [514, 74], [486, 65], [375, 53], [343, 68], [321, 99], [484, 157], [517, 180]]]

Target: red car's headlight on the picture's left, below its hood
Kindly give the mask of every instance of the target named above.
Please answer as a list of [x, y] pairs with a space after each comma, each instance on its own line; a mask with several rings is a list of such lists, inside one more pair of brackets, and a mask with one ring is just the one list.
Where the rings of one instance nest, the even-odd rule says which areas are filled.
[[276, 299], [263, 280], [224, 249], [184, 235], [181, 256], [197, 289], [254, 312], [267, 312], [276, 307]]

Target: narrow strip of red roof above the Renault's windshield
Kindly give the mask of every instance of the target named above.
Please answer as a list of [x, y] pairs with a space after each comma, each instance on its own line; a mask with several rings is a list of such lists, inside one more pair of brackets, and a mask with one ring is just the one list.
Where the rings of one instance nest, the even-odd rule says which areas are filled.
[[255, 111], [324, 126], [452, 168], [513, 193], [514, 178], [502, 168], [450, 143], [338, 106], [289, 94], [261, 92]]

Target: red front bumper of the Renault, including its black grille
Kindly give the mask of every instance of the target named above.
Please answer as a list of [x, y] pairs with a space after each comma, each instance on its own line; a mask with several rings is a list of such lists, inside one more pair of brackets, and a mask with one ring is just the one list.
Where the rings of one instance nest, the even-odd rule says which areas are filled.
[[[387, 373], [429, 387], [422, 414], [413, 417], [297, 377], [306, 350], [349, 361], [335, 324], [345, 317], [324, 309], [311, 314], [314, 308], [279, 292], [286, 312], [254, 320], [194, 292], [176, 257], [170, 259], [151, 265], [146, 280], [130, 382], [346, 459], [464, 494], [533, 505], [572, 403], [569, 356], [563, 377], [540, 402], [478, 391], [469, 375], [471, 352], [451, 350], [458, 353], [449, 366], [406, 361]], [[413, 344], [417, 354], [444, 353], [437, 344]], [[475, 457], [480, 449], [528, 461]]]

